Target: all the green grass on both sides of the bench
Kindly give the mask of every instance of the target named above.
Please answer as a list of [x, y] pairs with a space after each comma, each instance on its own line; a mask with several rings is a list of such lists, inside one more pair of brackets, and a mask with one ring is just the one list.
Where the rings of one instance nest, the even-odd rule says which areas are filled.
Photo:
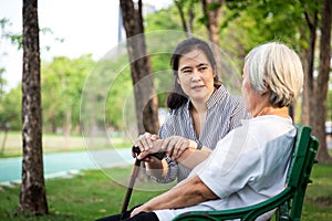
[[[131, 170], [132, 167], [118, 167], [105, 172], [112, 173], [113, 180], [126, 183]], [[0, 190], [0, 220], [84, 221], [118, 213], [126, 188], [112, 181], [110, 176], [105, 176], [105, 172], [86, 170], [71, 179], [46, 180], [50, 214], [37, 218], [17, 217], [19, 187], [2, 187]], [[315, 165], [312, 179], [313, 183], [308, 186], [301, 220], [332, 220], [332, 165]], [[149, 191], [134, 190], [129, 208], [163, 192], [163, 190], [151, 191], [154, 187], [145, 188]]]

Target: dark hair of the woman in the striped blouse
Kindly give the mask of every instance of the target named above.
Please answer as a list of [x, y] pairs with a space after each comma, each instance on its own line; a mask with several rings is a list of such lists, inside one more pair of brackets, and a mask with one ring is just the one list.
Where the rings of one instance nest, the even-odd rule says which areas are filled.
[[181, 41], [174, 50], [172, 57], [170, 57], [170, 66], [173, 70], [173, 76], [174, 76], [174, 88], [173, 92], [168, 94], [167, 97], [167, 106], [170, 109], [176, 109], [180, 107], [181, 105], [186, 104], [188, 101], [187, 95], [184, 93], [181, 86], [177, 83], [177, 76], [178, 76], [178, 62], [179, 59], [184, 55], [187, 54], [194, 50], [200, 50], [208, 59], [212, 66], [212, 71], [215, 73], [214, 77], [214, 85], [215, 87], [219, 87], [221, 85], [221, 82], [219, 81], [218, 77], [218, 72], [217, 72], [217, 64], [216, 60], [212, 53], [211, 48], [208, 45], [207, 42], [197, 39], [197, 38], [189, 38], [184, 41]]

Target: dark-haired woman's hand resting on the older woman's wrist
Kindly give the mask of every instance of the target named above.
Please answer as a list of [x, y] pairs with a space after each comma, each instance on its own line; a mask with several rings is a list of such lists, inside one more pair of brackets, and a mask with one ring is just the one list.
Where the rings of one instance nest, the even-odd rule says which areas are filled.
[[177, 159], [187, 148], [196, 148], [197, 144], [180, 136], [172, 136], [164, 139], [160, 149], [167, 152], [172, 159]]

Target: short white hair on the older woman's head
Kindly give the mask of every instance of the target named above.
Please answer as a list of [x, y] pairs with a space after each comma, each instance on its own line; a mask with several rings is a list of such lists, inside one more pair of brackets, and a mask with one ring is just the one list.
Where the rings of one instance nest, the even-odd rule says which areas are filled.
[[303, 69], [298, 54], [282, 43], [271, 42], [252, 49], [246, 56], [245, 69], [252, 90], [271, 92], [273, 106], [289, 106], [300, 94]]

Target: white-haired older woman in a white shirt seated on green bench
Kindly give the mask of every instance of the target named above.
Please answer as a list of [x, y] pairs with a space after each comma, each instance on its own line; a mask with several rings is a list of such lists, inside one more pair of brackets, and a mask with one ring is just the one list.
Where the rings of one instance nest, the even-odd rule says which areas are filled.
[[[295, 137], [288, 106], [302, 83], [300, 59], [284, 44], [272, 42], [251, 50], [243, 66], [242, 94], [253, 118], [219, 140], [207, 157], [187, 148], [175, 160], [201, 159], [187, 179], [113, 220], [172, 220], [188, 211], [247, 207], [279, 193]], [[139, 158], [160, 151], [160, 141]]]

